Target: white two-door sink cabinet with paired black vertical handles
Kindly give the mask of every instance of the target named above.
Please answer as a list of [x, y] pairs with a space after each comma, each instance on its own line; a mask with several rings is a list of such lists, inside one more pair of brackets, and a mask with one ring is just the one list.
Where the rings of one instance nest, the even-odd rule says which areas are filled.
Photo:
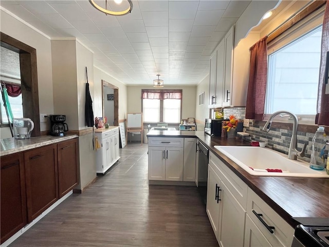
[[212, 152], [208, 168], [207, 214], [217, 241], [243, 246], [248, 186]]

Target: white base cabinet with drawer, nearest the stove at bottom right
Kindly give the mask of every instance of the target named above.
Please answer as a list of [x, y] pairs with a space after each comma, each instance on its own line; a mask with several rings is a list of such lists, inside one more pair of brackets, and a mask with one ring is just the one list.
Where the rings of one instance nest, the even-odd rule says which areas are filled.
[[[283, 220], [256, 193], [248, 188], [247, 219], [244, 246], [291, 246], [294, 228]], [[249, 219], [251, 222], [249, 222]]]

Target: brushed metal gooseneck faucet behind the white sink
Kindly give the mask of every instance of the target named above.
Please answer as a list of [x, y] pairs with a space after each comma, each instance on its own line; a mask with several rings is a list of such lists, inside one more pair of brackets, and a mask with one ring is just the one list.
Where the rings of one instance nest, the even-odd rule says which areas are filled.
[[288, 158], [290, 160], [297, 160], [297, 156], [299, 157], [304, 157], [305, 155], [305, 149], [306, 149], [306, 144], [304, 144], [302, 151], [298, 151], [297, 150], [297, 126], [298, 126], [298, 119], [297, 116], [294, 113], [288, 112], [288, 111], [278, 111], [273, 113], [269, 119], [267, 120], [267, 122], [265, 123], [264, 127], [263, 127], [263, 131], [268, 132], [269, 129], [271, 128], [271, 124], [272, 124], [272, 119], [279, 115], [279, 114], [287, 114], [289, 116], [291, 116], [294, 120], [294, 125], [293, 125], [293, 136], [291, 136], [291, 140], [290, 140], [290, 146], [289, 146], [289, 152], [288, 152]]

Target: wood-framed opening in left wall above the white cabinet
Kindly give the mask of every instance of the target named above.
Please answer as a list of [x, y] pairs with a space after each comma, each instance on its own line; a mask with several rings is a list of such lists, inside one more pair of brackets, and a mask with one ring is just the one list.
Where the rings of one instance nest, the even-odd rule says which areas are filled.
[[102, 95], [103, 119], [106, 116], [109, 125], [119, 126], [119, 88], [102, 80]]

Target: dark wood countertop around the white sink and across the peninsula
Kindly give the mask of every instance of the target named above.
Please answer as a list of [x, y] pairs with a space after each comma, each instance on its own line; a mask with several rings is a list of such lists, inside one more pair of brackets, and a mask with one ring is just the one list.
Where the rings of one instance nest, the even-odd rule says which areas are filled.
[[203, 131], [150, 131], [148, 137], [197, 137], [287, 223], [296, 218], [326, 218], [329, 225], [329, 175], [323, 178], [255, 177], [214, 146], [250, 146], [241, 139], [210, 137]]

